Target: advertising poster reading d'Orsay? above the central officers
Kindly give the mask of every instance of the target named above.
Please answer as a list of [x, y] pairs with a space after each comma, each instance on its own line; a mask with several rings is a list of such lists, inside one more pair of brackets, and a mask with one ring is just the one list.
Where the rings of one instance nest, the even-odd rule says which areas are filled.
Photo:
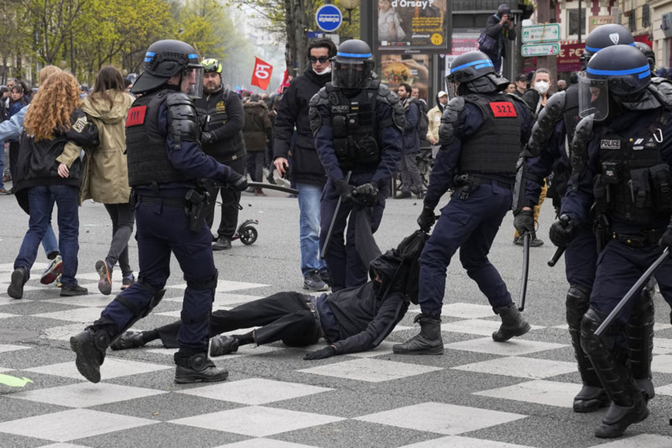
[[380, 50], [448, 52], [447, 3], [446, 0], [378, 0]]

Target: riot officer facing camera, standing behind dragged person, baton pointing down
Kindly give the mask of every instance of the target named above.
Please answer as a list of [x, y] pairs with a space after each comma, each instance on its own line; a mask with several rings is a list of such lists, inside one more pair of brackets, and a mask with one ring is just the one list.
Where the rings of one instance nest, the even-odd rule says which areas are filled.
[[371, 229], [378, 229], [401, 157], [404, 110], [398, 97], [374, 79], [373, 69], [368, 44], [346, 40], [333, 59], [331, 83], [310, 100], [310, 128], [327, 172], [320, 204], [322, 248], [336, 214], [323, 251], [333, 291], [366, 283], [367, 267], [355, 250], [355, 222], [360, 213], [370, 213]]

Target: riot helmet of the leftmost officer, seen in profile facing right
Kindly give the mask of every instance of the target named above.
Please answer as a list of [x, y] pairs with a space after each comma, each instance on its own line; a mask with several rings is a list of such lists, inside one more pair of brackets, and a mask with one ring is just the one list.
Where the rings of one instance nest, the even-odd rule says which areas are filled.
[[158, 40], [147, 48], [143, 67], [144, 71], [130, 90], [134, 94], [156, 89], [179, 73], [182, 80], [187, 77], [191, 80], [187, 95], [199, 98], [202, 94], [203, 66], [190, 44], [181, 40]]

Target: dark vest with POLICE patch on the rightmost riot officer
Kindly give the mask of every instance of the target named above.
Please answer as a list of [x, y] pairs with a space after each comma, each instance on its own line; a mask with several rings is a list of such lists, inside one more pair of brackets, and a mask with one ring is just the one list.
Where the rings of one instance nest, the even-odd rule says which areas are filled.
[[672, 174], [661, 159], [662, 127], [655, 124], [637, 137], [605, 129], [599, 137], [599, 174], [593, 180], [597, 213], [644, 226], [669, 216]]

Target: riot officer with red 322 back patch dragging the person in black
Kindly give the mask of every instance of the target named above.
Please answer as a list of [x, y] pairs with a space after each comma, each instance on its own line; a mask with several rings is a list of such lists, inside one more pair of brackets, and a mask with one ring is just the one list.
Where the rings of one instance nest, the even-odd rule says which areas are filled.
[[[421, 331], [407, 342], [392, 346], [395, 353], [444, 352], [441, 309], [446, 268], [458, 248], [468, 276], [502, 320], [493, 339], [501, 342], [530, 330], [487, 254], [504, 215], [511, 209], [516, 160], [530, 137], [534, 118], [517, 96], [502, 93], [509, 81], [495, 74], [485, 53], [472, 51], [457, 57], [446, 80], [458, 96], [448, 103], [442, 116], [441, 149], [418, 218], [421, 229], [429, 231], [439, 199], [447, 190], [454, 192], [420, 257], [421, 313], [415, 321]], [[496, 148], [493, 141], [497, 141]]]

